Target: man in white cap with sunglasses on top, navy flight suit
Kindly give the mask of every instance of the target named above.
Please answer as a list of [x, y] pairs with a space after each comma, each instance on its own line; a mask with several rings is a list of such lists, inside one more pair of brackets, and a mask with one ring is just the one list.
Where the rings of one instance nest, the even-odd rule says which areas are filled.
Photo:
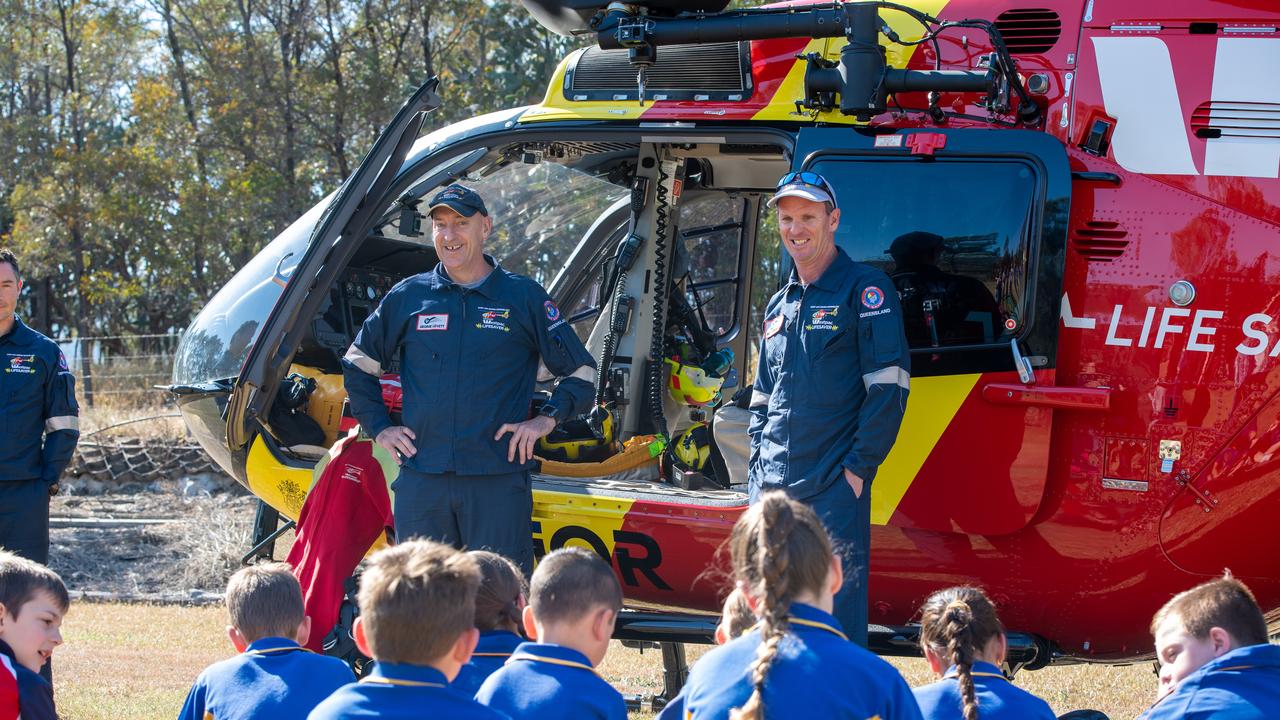
[[897, 438], [910, 359], [893, 282], [836, 246], [836, 192], [788, 173], [769, 206], [795, 265], [764, 311], [751, 389], [748, 489], [783, 489], [813, 506], [842, 546], [835, 616], [867, 644], [870, 484]]

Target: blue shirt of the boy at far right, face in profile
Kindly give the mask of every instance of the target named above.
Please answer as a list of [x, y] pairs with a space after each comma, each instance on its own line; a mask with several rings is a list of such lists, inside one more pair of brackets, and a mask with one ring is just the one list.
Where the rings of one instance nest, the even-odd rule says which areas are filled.
[[1206, 662], [1139, 720], [1280, 717], [1280, 646], [1252, 644]]

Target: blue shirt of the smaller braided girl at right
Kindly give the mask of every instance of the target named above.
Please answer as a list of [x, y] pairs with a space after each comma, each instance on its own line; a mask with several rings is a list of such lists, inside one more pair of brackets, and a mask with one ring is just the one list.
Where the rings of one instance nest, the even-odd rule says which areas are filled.
[[[952, 666], [937, 683], [915, 688], [925, 720], [964, 720], [959, 673]], [[982, 720], [1055, 720], [1048, 703], [1005, 679], [989, 662], [973, 664], [973, 689]]]

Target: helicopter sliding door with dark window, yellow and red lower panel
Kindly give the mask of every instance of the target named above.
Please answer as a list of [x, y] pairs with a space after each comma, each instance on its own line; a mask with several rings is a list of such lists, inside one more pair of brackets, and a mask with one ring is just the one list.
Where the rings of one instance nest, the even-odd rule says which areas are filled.
[[901, 299], [911, 392], [872, 521], [1024, 527], [1044, 495], [1055, 407], [1101, 401], [1055, 387], [1071, 181], [1061, 143], [1030, 131], [805, 128], [794, 169], [831, 181], [836, 243]]

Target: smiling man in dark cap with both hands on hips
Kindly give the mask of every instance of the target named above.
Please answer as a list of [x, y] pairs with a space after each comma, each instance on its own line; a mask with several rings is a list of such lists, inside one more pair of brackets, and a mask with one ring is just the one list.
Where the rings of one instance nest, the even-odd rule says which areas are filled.
[[[365, 320], [343, 357], [351, 410], [401, 461], [397, 539], [488, 548], [527, 575], [534, 446], [590, 404], [595, 361], [541, 286], [484, 254], [493, 219], [476, 192], [451, 184], [429, 213], [440, 264], [392, 288]], [[378, 382], [397, 357], [403, 425]], [[561, 380], [529, 419], [539, 359]]]

